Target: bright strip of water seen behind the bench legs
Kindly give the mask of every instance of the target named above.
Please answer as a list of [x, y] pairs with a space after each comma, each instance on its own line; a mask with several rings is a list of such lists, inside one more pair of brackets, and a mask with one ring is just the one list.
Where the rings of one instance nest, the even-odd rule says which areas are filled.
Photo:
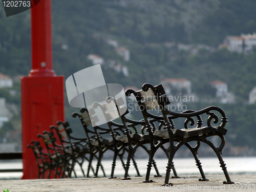
[[[256, 174], [256, 157], [224, 157], [223, 159], [226, 163], [227, 170], [230, 175]], [[157, 167], [159, 169], [160, 174], [165, 175], [167, 159], [155, 159], [155, 161], [157, 163]], [[223, 170], [221, 169], [217, 158], [200, 158], [200, 161], [202, 163], [205, 174], [223, 174]], [[145, 176], [147, 159], [137, 159], [136, 163], [139, 167], [140, 174], [142, 176]], [[195, 163], [195, 159], [193, 158], [175, 158], [174, 164], [178, 175], [200, 175], [199, 170]], [[96, 161], [93, 162], [94, 167], [95, 165]], [[103, 160], [102, 165], [104, 167], [106, 176], [109, 177], [111, 173], [112, 160]], [[0, 169], [8, 168], [22, 168], [22, 160], [0, 161]], [[83, 168], [85, 171], [87, 170], [87, 163], [84, 163]], [[79, 166], [76, 166], [75, 169], [77, 176], [82, 177]], [[154, 176], [155, 174], [156, 173], [153, 168], [151, 171], [151, 175]], [[0, 173], [0, 179], [20, 179], [22, 175], [22, 172]], [[124, 170], [121, 166], [120, 161], [117, 161], [115, 176], [122, 177], [123, 175]], [[130, 166], [129, 175], [136, 175], [136, 171], [132, 163]], [[99, 176], [103, 176], [101, 170], [99, 171]]]

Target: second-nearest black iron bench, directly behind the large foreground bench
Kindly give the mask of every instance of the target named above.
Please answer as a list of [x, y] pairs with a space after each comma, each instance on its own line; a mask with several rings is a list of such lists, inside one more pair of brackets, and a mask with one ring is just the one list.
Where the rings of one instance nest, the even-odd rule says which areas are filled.
[[[118, 151], [120, 152], [120, 150], [122, 149], [126, 149], [125, 147], [127, 147], [126, 151], [128, 152], [127, 155], [127, 161], [126, 161], [126, 165], [125, 165], [125, 174], [124, 174], [124, 178], [123, 180], [129, 180], [129, 168], [130, 168], [130, 161], [132, 159], [133, 164], [136, 168], [137, 171], [137, 176], [140, 176], [139, 174], [139, 170], [137, 168], [137, 164], [134, 160], [134, 155], [135, 152], [137, 150], [138, 147], [142, 147], [143, 150], [146, 151], [146, 153], [148, 155], [150, 155], [150, 150], [145, 146], [145, 144], [150, 143], [150, 136], [148, 134], [144, 134], [144, 130], [145, 130], [145, 125], [146, 122], [144, 120], [141, 121], [135, 121], [132, 119], [127, 118], [125, 115], [129, 113], [128, 110], [122, 109], [120, 108], [120, 106], [124, 104], [124, 101], [122, 100], [122, 98], [109, 98], [108, 100], [106, 100], [105, 104], [100, 104], [100, 103], [95, 103], [94, 104], [94, 108], [97, 108], [98, 106], [101, 108], [103, 114], [104, 114], [104, 118], [106, 119], [106, 121], [108, 121], [108, 125], [109, 125], [109, 129], [111, 131], [111, 135], [113, 136], [113, 141], [114, 141], [114, 147], [117, 150], [117, 153], [114, 154], [114, 158], [113, 158], [113, 164], [112, 164], [112, 174], [110, 178], [113, 178], [113, 174], [114, 174], [114, 168], [115, 168], [115, 160], [118, 154]], [[119, 111], [122, 110], [126, 110], [126, 112], [123, 115], [120, 115]], [[111, 121], [111, 119], [115, 118], [119, 116], [122, 120], [122, 124], [118, 124], [115, 123], [113, 121]], [[157, 120], [152, 120], [151, 123], [154, 124], [153, 121], [157, 121]], [[114, 128], [113, 128], [114, 127]], [[118, 127], [121, 127], [123, 129], [123, 135], [119, 135], [116, 136], [116, 134], [114, 134], [114, 130], [118, 129]], [[141, 129], [141, 133], [142, 134], [138, 134], [138, 130], [137, 129]], [[168, 140], [165, 139], [165, 142], [167, 142]], [[164, 152], [167, 154], [167, 151], [162, 145], [160, 146]], [[154, 160], [152, 160], [153, 166], [156, 170], [156, 175], [155, 177], [161, 177], [161, 175], [159, 174], [159, 171], [157, 169], [156, 163]], [[176, 170], [173, 167], [173, 171], [174, 171], [174, 177], [175, 178], [179, 178], [177, 176]]]

